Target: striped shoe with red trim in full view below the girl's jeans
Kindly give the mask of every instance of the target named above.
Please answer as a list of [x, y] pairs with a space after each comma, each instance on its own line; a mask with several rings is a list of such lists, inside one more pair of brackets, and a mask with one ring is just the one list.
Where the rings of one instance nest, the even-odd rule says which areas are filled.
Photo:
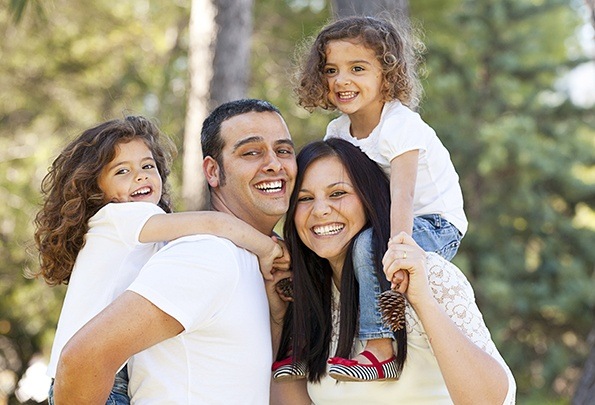
[[328, 360], [329, 375], [337, 381], [394, 381], [398, 379], [397, 358], [379, 362], [367, 350], [361, 352], [372, 364], [360, 364], [357, 360], [332, 357]]

